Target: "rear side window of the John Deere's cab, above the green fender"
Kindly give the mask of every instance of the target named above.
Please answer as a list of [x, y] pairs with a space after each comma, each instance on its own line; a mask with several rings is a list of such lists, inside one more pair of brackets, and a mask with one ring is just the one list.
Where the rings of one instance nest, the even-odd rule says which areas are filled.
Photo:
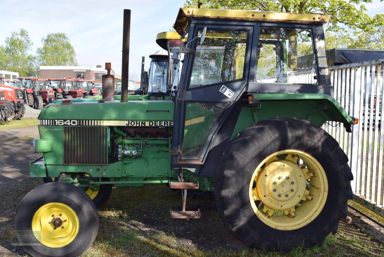
[[260, 27], [257, 47], [254, 82], [317, 83], [310, 29]]

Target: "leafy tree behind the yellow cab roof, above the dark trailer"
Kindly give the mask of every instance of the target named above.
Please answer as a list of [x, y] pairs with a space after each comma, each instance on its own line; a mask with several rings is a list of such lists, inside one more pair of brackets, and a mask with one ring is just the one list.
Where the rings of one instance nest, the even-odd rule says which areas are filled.
[[[196, 8], [197, 2], [186, 0], [184, 6]], [[206, 0], [203, 8], [330, 14], [331, 20], [324, 25], [328, 35], [327, 48], [384, 49], [383, 15], [370, 17], [364, 5], [358, 7], [370, 2], [372, 0]], [[335, 42], [341, 45], [335, 45]]]

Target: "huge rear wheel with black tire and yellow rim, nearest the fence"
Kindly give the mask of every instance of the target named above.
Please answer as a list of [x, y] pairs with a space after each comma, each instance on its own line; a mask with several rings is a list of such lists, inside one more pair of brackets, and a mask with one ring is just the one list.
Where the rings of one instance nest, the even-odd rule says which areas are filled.
[[225, 153], [215, 202], [225, 226], [248, 247], [285, 252], [321, 246], [348, 214], [348, 158], [306, 120], [262, 120], [240, 132]]

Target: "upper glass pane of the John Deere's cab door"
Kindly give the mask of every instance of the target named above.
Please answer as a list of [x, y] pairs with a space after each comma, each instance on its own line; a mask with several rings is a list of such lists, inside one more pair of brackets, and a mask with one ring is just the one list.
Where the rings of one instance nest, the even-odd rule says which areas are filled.
[[197, 40], [190, 88], [243, 78], [247, 32], [207, 30]]

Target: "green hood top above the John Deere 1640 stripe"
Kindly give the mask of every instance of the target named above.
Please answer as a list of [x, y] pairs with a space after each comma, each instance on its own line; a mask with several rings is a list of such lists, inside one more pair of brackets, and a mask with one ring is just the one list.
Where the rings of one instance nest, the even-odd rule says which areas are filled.
[[[71, 100], [71, 102], [48, 105], [41, 110], [38, 118], [39, 120], [172, 121], [173, 114], [174, 103], [172, 101], [130, 101], [122, 103], [118, 101], [98, 102], [95, 100], [72, 102]], [[100, 124], [105, 125], [107, 123]], [[51, 124], [49, 123], [49, 125]]]

